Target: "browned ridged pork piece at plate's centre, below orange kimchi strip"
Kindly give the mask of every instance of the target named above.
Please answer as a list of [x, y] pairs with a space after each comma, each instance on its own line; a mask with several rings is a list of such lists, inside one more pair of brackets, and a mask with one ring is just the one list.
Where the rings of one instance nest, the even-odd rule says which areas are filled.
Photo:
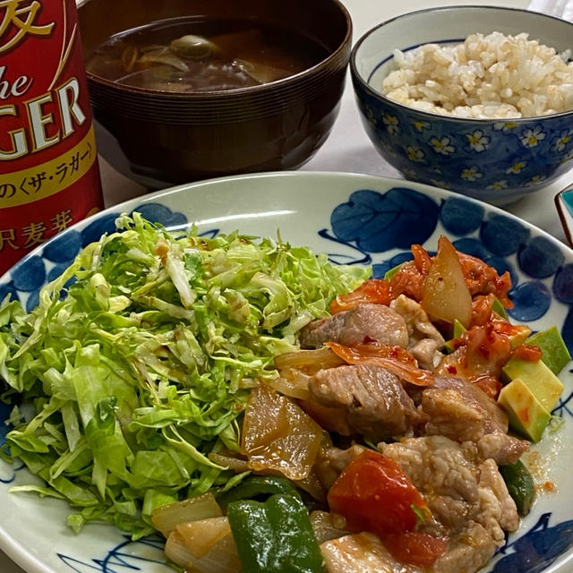
[[385, 440], [412, 432], [420, 422], [414, 402], [398, 376], [374, 364], [356, 364], [316, 372], [309, 381], [312, 399], [339, 408], [350, 434]]

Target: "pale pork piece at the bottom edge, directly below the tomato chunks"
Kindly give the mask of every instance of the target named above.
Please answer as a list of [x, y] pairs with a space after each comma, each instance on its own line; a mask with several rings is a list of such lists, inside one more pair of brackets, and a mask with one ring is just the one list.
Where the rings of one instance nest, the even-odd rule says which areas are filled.
[[395, 560], [376, 535], [344, 535], [321, 543], [328, 573], [422, 573]]

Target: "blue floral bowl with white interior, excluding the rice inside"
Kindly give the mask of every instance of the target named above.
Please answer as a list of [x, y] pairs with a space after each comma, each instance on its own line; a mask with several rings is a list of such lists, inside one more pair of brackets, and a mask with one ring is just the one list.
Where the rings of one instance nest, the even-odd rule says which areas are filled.
[[[573, 47], [569, 21], [513, 8], [446, 6], [407, 13], [366, 32], [353, 48], [350, 72], [365, 131], [390, 165], [412, 181], [501, 205], [573, 166], [570, 107], [521, 117], [444, 115], [382, 94], [400, 53], [426, 44], [453, 47], [472, 34], [492, 33], [527, 34], [527, 41], [552, 47], [565, 60]], [[573, 73], [572, 64], [569, 69]], [[573, 85], [556, 89], [569, 90], [573, 104]]]

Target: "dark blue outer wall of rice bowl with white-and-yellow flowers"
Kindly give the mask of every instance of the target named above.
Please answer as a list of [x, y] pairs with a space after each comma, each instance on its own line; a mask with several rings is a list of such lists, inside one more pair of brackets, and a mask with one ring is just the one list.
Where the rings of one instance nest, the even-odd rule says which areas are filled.
[[365, 92], [359, 97], [368, 135], [408, 179], [477, 199], [495, 200], [503, 194], [510, 200], [523, 189], [540, 189], [571, 168], [573, 121], [567, 116], [552, 122], [498, 121], [476, 127], [475, 121], [404, 111]]

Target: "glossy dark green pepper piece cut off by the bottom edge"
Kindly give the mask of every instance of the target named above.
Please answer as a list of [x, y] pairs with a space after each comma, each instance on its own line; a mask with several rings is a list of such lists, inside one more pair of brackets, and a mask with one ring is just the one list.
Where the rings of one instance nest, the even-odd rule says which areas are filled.
[[262, 502], [232, 501], [227, 517], [244, 571], [324, 572], [308, 510], [295, 495], [277, 493]]

